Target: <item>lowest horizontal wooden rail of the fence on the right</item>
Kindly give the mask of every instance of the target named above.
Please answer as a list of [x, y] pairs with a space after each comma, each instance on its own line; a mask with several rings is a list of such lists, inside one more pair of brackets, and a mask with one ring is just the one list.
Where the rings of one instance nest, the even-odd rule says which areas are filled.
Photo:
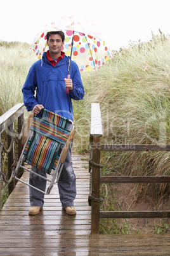
[[100, 218], [170, 218], [170, 211], [100, 211]]

